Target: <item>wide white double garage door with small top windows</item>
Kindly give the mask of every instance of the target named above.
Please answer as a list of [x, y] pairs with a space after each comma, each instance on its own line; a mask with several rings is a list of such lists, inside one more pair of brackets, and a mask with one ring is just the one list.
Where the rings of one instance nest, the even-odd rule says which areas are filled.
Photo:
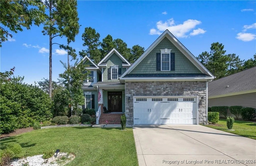
[[197, 97], [134, 97], [134, 124], [198, 124]]

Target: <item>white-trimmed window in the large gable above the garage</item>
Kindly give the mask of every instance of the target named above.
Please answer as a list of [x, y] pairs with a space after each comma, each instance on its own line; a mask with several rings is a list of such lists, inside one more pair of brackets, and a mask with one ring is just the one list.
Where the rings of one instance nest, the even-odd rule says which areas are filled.
[[161, 71], [170, 71], [170, 53], [171, 49], [161, 49]]

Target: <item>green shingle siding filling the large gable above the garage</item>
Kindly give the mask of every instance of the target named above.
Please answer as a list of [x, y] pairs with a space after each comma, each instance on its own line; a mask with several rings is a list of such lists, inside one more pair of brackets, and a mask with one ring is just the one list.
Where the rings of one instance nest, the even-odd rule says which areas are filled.
[[[156, 71], [156, 53], [160, 49], [172, 49], [175, 53], [175, 71]], [[130, 72], [130, 74], [150, 73], [201, 73], [199, 69], [182, 54], [166, 37]]]

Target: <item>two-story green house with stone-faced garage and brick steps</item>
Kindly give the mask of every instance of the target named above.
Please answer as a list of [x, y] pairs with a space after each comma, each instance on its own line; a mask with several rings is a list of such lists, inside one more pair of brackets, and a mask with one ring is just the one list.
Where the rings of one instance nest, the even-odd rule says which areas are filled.
[[115, 48], [98, 64], [87, 56], [82, 61], [91, 71], [82, 87], [84, 107], [95, 108], [99, 124], [120, 124], [121, 114], [127, 124], [207, 122], [214, 75], [168, 30], [132, 65]]

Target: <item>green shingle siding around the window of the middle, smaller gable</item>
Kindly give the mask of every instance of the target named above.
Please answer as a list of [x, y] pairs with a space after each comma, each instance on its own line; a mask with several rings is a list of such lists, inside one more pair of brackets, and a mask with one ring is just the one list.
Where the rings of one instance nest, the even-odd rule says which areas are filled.
[[[113, 55], [110, 56], [110, 58], [108, 60], [106, 60], [107, 62], [107, 68], [103, 68], [103, 80], [102, 81], [118, 81], [119, 80], [108, 80], [108, 68], [110, 68], [111, 66], [117, 65], [119, 68], [122, 67], [122, 59], [119, 58], [118, 55], [116, 55], [115, 53]], [[126, 71], [126, 68], [122, 68], [122, 74]]]

